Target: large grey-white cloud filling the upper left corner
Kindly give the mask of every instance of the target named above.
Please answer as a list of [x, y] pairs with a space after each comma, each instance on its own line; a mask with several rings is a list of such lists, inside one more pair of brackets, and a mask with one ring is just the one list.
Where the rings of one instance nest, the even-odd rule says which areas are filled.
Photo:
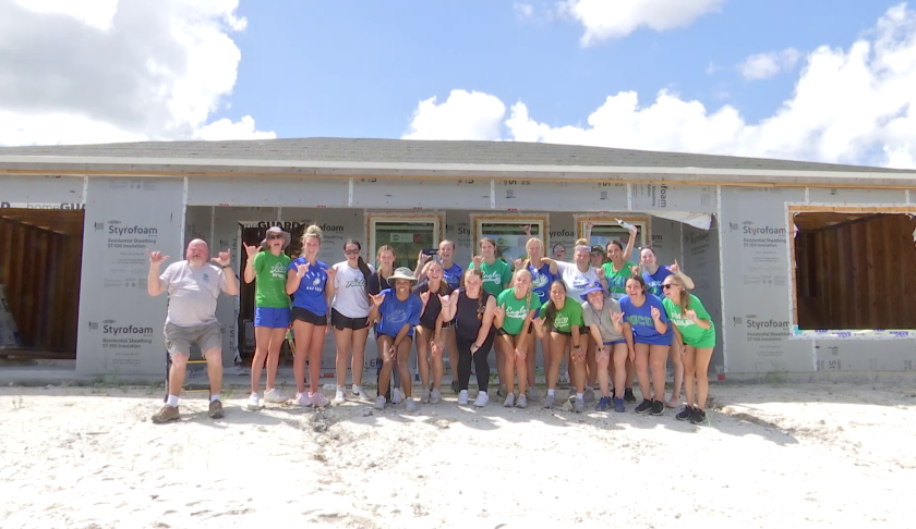
[[0, 0], [0, 145], [274, 137], [207, 124], [236, 84], [237, 7]]

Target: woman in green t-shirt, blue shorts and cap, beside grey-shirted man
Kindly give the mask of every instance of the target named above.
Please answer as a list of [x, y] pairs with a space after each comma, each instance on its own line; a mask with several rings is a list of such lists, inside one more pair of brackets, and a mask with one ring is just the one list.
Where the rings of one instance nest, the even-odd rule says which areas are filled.
[[[289, 246], [290, 234], [278, 226], [267, 229], [261, 246], [244, 245], [248, 262], [244, 280], [255, 284], [254, 309], [254, 358], [251, 360], [251, 395], [248, 407], [257, 409], [261, 402], [257, 390], [261, 385], [261, 371], [267, 360], [267, 384], [264, 387], [264, 401], [282, 403], [286, 397], [275, 387], [277, 364], [280, 360], [280, 346], [286, 340], [291, 317], [289, 295], [286, 293], [287, 268], [290, 258], [284, 254]], [[244, 244], [244, 243], [243, 243]], [[264, 251], [261, 251], [261, 250]]]

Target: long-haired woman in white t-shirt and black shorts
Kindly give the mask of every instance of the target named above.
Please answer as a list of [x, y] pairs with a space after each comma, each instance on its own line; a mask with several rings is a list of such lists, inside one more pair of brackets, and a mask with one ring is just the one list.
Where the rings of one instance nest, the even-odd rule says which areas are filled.
[[369, 337], [369, 312], [372, 303], [366, 294], [366, 280], [374, 273], [360, 255], [362, 247], [357, 241], [350, 239], [343, 244], [346, 261], [334, 266], [337, 275], [334, 279], [336, 294], [330, 303], [330, 324], [334, 327], [334, 341], [337, 344], [337, 394], [335, 404], [342, 404], [343, 385], [347, 383], [347, 365], [350, 364], [352, 350], [353, 395], [369, 401], [369, 395], [362, 387], [363, 362], [365, 359], [365, 341]]

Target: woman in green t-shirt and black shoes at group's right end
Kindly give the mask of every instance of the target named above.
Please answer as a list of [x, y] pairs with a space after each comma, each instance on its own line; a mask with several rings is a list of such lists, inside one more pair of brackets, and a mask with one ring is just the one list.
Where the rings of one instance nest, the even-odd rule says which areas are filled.
[[[706, 421], [706, 399], [709, 395], [709, 361], [715, 347], [715, 327], [700, 298], [687, 292], [687, 285], [677, 275], [668, 275], [662, 283], [665, 312], [674, 323], [673, 348], [679, 350], [684, 364], [684, 385], [687, 406], [675, 416], [695, 425]], [[694, 398], [694, 378], [697, 379], [697, 398]]]

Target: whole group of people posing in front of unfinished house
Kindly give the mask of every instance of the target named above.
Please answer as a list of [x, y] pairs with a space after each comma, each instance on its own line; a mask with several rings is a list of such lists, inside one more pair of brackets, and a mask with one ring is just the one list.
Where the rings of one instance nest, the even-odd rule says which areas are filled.
[[[418, 409], [408, 366], [414, 343], [420, 404], [442, 399], [443, 359], [448, 355], [451, 390], [458, 394], [458, 404], [469, 403], [468, 383], [473, 371], [478, 382], [473, 404], [485, 406], [490, 401], [489, 356], [495, 349], [496, 395], [504, 406], [527, 407], [541, 397], [534, 383], [540, 342], [545, 407], [557, 402], [557, 383], [565, 365], [572, 385], [568, 398], [576, 411], [584, 410], [586, 403], [595, 399], [598, 410], [613, 407], [625, 411], [626, 403], [637, 403], [632, 390], [636, 378], [642, 395], [636, 413], [663, 415], [665, 408], [678, 407], [684, 403], [684, 385], [686, 405], [675, 417], [702, 423], [709, 390], [707, 372], [715, 346], [712, 319], [700, 299], [690, 294], [694, 282], [677, 261], [660, 266], [654, 249], [648, 246], [640, 248], [638, 264], [630, 260], [636, 236], [636, 229], [630, 226], [626, 246], [611, 241], [602, 249], [589, 246], [591, 237], [587, 234], [576, 242], [572, 262], [546, 257], [538, 237], [528, 238], [523, 259], [506, 262], [496, 257], [494, 241], [485, 237], [467, 269], [455, 262], [454, 243], [443, 241], [437, 251], [421, 253], [411, 270], [394, 268], [397, 256], [389, 246], [378, 248], [374, 268], [362, 258], [362, 247], [353, 239], [343, 244], [346, 259], [328, 266], [317, 259], [322, 232], [314, 225], [305, 230], [301, 255], [292, 259], [285, 253], [290, 234], [270, 227], [260, 246], [244, 247], [248, 259], [242, 278], [256, 283], [255, 354], [248, 406], [258, 409], [262, 405], [260, 385], [265, 364], [263, 401], [287, 401], [276, 387], [276, 374], [280, 347], [291, 324], [294, 401], [302, 406], [330, 404], [320, 391], [320, 378], [325, 334], [333, 328], [337, 404], [347, 399], [348, 368], [352, 395], [372, 401], [362, 381], [365, 345], [372, 332], [378, 350], [374, 398], [378, 409], [401, 402], [407, 411]], [[166, 422], [178, 418], [178, 393], [193, 342], [201, 345], [212, 366], [210, 416], [220, 417], [219, 377], [213, 367], [219, 362], [221, 373], [216, 299], [219, 292], [236, 295], [239, 291], [234, 274], [224, 272], [230, 268], [228, 251], [220, 253], [210, 264], [206, 243], [195, 239], [188, 246], [186, 260], [170, 264], [161, 273], [159, 266], [167, 257], [148, 254], [149, 294], [169, 293], [165, 335], [172, 358], [169, 396], [153, 419]], [[674, 386], [666, 399], [668, 359], [674, 368]]]

